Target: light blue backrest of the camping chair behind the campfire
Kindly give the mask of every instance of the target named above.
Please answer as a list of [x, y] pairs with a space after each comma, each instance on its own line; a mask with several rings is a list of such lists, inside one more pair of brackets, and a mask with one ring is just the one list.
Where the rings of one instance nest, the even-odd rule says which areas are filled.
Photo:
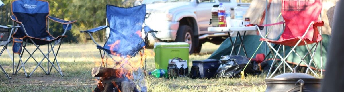
[[104, 48], [111, 50], [112, 55], [135, 55], [145, 45], [141, 43], [141, 30], [146, 16], [146, 4], [130, 8], [106, 5], [106, 16], [110, 33]]

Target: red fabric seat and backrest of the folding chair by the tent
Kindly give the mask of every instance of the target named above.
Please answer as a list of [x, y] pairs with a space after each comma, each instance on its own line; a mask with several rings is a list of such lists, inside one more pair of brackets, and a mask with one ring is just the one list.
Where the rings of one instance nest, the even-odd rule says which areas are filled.
[[[318, 20], [322, 9], [321, 3], [322, 0], [315, 0], [315, 2], [282, 0], [282, 16], [286, 24], [282, 35], [277, 41], [266, 38], [261, 38], [261, 41], [268, 41], [270, 43], [286, 46], [295, 46], [299, 39], [306, 41], [308, 44], [321, 41], [321, 35], [318, 30], [313, 30], [313, 26], [311, 26], [308, 33], [302, 37], [307, 31], [309, 24]], [[314, 37], [317, 38], [313, 39]], [[298, 46], [301, 45], [305, 45], [305, 43], [298, 44]]]

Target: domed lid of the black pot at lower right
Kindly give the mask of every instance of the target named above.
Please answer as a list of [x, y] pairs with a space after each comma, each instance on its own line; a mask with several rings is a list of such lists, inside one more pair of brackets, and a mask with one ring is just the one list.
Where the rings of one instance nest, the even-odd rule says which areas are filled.
[[313, 76], [310, 76], [306, 73], [283, 73], [276, 77], [273, 77], [273, 79], [313, 79]]

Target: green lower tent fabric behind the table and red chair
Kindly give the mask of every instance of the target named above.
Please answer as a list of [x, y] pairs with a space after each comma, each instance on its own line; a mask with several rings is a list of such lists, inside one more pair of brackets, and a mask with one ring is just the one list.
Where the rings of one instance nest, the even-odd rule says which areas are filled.
[[[327, 49], [328, 49], [328, 45], [329, 45], [329, 40], [330, 40], [330, 35], [322, 35], [323, 39], [323, 67], [325, 67], [326, 65], [326, 56], [327, 56]], [[245, 48], [246, 48], [246, 53], [247, 53], [247, 57], [251, 57], [253, 55], [253, 53], [256, 51], [257, 47], [259, 46], [260, 42], [259, 41], [260, 36], [258, 35], [246, 35], [245, 36], [245, 40], [243, 41]], [[232, 41], [234, 41], [234, 38], [232, 38]], [[236, 44], [240, 44], [240, 41], [237, 41]], [[272, 44], [274, 45], [274, 44]], [[309, 46], [314, 45], [314, 44], [310, 44]], [[268, 53], [270, 52], [270, 50], [268, 48], [265, 48], [267, 45], [265, 43], [263, 43], [260, 48], [258, 49], [256, 54], [265, 54], [268, 55]], [[277, 49], [278, 47], [276, 47], [275, 49]], [[236, 46], [236, 51], [238, 51], [239, 46]], [[291, 50], [291, 48], [289, 47], [285, 47], [286, 52], [289, 52]], [[230, 43], [230, 39], [227, 38], [221, 45], [220, 47], [214, 51], [214, 53], [208, 58], [208, 59], [217, 59], [220, 60], [221, 56], [225, 56], [225, 55], [230, 55], [230, 51], [232, 50], [232, 45]], [[318, 66], [318, 68], [321, 67], [320, 64], [320, 46], [318, 46], [318, 48], [316, 49], [316, 53], [314, 56], [315, 59], [315, 64]], [[241, 49], [241, 52], [243, 50]], [[295, 51], [300, 55], [300, 56], [304, 56], [307, 54], [307, 48], [305, 46], [297, 46], [295, 48]], [[314, 51], [314, 49], [312, 50]], [[239, 55], [245, 56], [244, 53], [240, 53]], [[280, 55], [283, 55], [283, 52], [280, 51]], [[266, 56], [268, 58], [272, 58], [272, 55], [270, 54], [269, 56]], [[256, 58], [256, 55], [253, 57]], [[305, 62], [309, 63], [309, 60], [311, 60], [311, 57], [306, 57]], [[299, 57], [297, 55], [295, 55], [294, 53], [292, 53], [288, 58], [287, 58], [287, 62], [289, 64], [299, 64], [301, 60], [299, 59]], [[300, 66], [306, 66], [304, 63], [301, 63]], [[315, 66], [312, 64], [311, 66], [312, 69], [315, 69]]]

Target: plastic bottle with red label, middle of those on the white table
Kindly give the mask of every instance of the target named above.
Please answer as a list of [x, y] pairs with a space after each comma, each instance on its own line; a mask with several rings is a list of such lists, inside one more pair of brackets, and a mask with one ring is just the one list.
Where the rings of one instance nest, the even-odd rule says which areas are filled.
[[226, 8], [222, 5], [222, 3], [219, 4], [217, 8], [217, 15], [218, 15], [218, 26], [219, 27], [227, 27], [226, 22]]

